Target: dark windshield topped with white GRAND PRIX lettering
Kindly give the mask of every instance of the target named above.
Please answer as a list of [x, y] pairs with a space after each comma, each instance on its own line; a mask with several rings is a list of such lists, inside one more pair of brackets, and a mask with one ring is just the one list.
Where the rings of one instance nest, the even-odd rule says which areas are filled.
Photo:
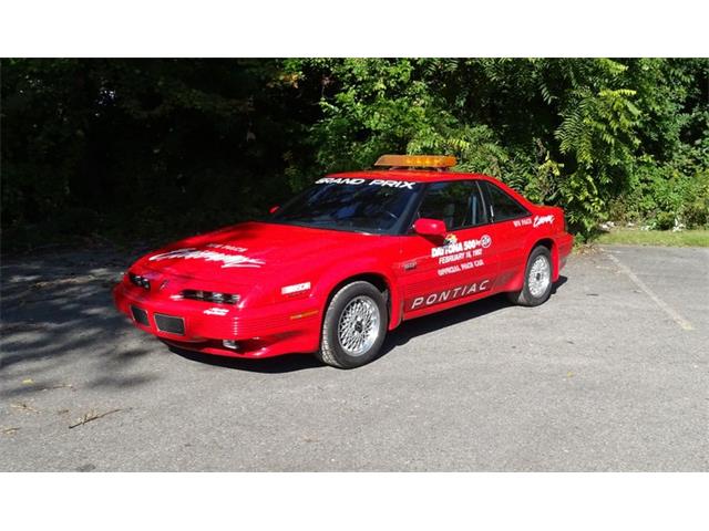
[[391, 233], [421, 188], [419, 183], [323, 178], [267, 221], [325, 229]]

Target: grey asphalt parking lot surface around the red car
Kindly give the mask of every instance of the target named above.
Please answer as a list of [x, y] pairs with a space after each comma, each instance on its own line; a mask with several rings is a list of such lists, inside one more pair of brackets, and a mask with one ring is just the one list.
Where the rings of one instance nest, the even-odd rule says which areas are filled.
[[709, 250], [574, 254], [353, 371], [169, 351], [112, 306], [135, 258], [3, 260], [0, 471], [709, 470]]

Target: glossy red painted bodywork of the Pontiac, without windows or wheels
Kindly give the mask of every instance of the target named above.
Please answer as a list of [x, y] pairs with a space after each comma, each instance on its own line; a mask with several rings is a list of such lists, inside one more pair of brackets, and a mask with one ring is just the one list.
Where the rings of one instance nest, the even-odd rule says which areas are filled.
[[[116, 306], [137, 327], [194, 351], [239, 357], [309, 353], [320, 346], [328, 298], [353, 277], [373, 275], [386, 283], [394, 329], [408, 319], [520, 290], [526, 259], [540, 242], [552, 248], [557, 280], [572, 249], [562, 209], [533, 205], [492, 177], [421, 170], [328, 177], [395, 181], [397, 187], [401, 181], [487, 180], [530, 216], [453, 232], [441, 220], [422, 218], [400, 236], [239, 223], [140, 259], [130, 272], [146, 278], [151, 288], [133, 284], [126, 274], [113, 290]], [[179, 298], [183, 290], [240, 299], [237, 304], [187, 300]], [[148, 325], [135, 322], [131, 305], [147, 311]], [[185, 334], [160, 332], [155, 313], [182, 317]], [[223, 340], [236, 341], [239, 348], [223, 346]]]

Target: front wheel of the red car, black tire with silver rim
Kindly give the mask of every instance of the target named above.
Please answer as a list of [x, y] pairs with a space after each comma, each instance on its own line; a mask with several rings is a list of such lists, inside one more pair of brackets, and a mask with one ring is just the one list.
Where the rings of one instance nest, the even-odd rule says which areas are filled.
[[[356, 314], [358, 304], [359, 308], [364, 309], [364, 312], [371, 312], [372, 321], [367, 321], [364, 324], [364, 326], [368, 326], [367, 330], [371, 331], [371, 334], [367, 333], [367, 330], [362, 333], [362, 330], [356, 331], [356, 329], [352, 329], [353, 332], [351, 332], [350, 335], [347, 335], [346, 332], [340, 333], [341, 321], [343, 327], [347, 327], [348, 316], [343, 316], [345, 311], [349, 310], [349, 315]], [[378, 314], [378, 319], [374, 324], [373, 315], [376, 314]], [[370, 317], [366, 316], [364, 319], [368, 320]], [[349, 317], [349, 320], [350, 322], [352, 322], [352, 320], [357, 321], [356, 317]], [[389, 312], [387, 311], [386, 294], [369, 282], [351, 282], [340, 288], [330, 300], [330, 304], [325, 313], [325, 319], [322, 320], [320, 351], [316, 355], [322, 363], [333, 367], [360, 367], [377, 357], [384, 342], [388, 327]], [[362, 340], [362, 352], [356, 352], [356, 350], [352, 348], [348, 350], [347, 346], [343, 345], [341, 335], [346, 336], [346, 341], [347, 339], [353, 337], [352, 341], [354, 342], [360, 341], [361, 337], [367, 337]]]

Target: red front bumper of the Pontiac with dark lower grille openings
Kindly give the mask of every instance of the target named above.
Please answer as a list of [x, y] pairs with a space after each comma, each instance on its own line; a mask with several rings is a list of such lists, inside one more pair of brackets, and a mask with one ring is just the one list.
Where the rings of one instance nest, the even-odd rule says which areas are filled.
[[[316, 352], [320, 346], [321, 315], [311, 299], [245, 310], [229, 304], [161, 299], [125, 282], [113, 289], [113, 299], [136, 327], [191, 351], [270, 357]], [[225, 340], [235, 342], [236, 347], [224, 346]]]

